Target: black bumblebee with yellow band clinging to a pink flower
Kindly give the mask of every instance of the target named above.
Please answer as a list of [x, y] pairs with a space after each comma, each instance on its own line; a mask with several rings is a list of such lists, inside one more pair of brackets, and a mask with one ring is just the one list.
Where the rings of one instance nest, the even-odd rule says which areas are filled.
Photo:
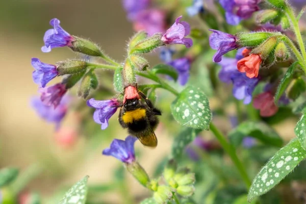
[[119, 123], [143, 145], [156, 147], [157, 138], [154, 130], [159, 123], [157, 116], [162, 113], [141, 91], [138, 91], [138, 94], [144, 101], [140, 97], [126, 99], [119, 112]]

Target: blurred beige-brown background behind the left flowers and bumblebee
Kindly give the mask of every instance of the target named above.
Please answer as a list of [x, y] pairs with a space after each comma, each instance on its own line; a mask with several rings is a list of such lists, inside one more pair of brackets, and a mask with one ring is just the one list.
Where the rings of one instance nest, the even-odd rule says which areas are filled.
[[[101, 150], [109, 146], [110, 141], [86, 156], [84, 138], [72, 148], [59, 147], [54, 140], [54, 125], [40, 119], [30, 106], [30, 98], [38, 94], [38, 86], [32, 81], [31, 58], [54, 64], [75, 57], [68, 48], [41, 52], [44, 32], [51, 28], [49, 20], [55, 17], [61, 20], [67, 32], [90, 38], [117, 61], [124, 59], [126, 42], [133, 35], [120, 0], [0, 1], [0, 167], [24, 169], [37, 161], [52, 161], [47, 168], [56, 165], [53, 173], [43, 173], [30, 186], [44, 196], [52, 195], [59, 186], [71, 185], [85, 175], [90, 175], [89, 184], [109, 182], [112, 169], [120, 165], [114, 158], [101, 156]], [[116, 115], [109, 126], [112, 133], [120, 130]], [[124, 139], [125, 136], [121, 131], [116, 138]], [[161, 156], [167, 154], [169, 148], [165, 146], [169, 143], [166, 137], [159, 137], [160, 145], [154, 151], [148, 148], [142, 151], [140, 162], [149, 173]], [[136, 148], [140, 146], [137, 142]], [[129, 177], [129, 180], [129, 190], [134, 195], [148, 194], [134, 179]], [[123, 203], [117, 194], [105, 198]]]

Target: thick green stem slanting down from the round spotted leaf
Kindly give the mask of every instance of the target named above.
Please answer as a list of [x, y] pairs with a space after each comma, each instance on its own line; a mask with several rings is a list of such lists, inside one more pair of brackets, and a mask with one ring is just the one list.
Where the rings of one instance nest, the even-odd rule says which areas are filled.
[[221, 146], [227, 152], [228, 156], [230, 156], [230, 158], [232, 159], [246, 187], [249, 188], [251, 186], [251, 181], [245, 171], [244, 166], [242, 165], [241, 161], [237, 157], [235, 148], [226, 141], [224, 135], [220, 131], [218, 131], [217, 127], [212, 122], [210, 123], [210, 129], [213, 132], [213, 134], [216, 136], [216, 138], [219, 140]]

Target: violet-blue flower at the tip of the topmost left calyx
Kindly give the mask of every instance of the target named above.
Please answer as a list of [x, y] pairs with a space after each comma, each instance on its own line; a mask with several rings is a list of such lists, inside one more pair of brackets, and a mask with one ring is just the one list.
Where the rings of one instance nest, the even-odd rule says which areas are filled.
[[42, 52], [48, 53], [54, 47], [72, 46], [71, 42], [74, 38], [60, 26], [59, 19], [53, 18], [50, 20], [50, 25], [54, 29], [49, 29], [45, 32], [43, 37], [45, 46], [41, 47]]

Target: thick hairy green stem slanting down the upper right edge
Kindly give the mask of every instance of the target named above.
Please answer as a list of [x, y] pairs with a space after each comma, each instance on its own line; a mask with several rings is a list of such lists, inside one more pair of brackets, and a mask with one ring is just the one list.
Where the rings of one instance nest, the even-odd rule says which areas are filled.
[[285, 11], [287, 12], [288, 17], [290, 18], [290, 20], [292, 22], [293, 30], [294, 30], [294, 33], [295, 33], [295, 36], [296, 36], [296, 39], [297, 39], [297, 43], [299, 45], [300, 51], [301, 51], [302, 56], [303, 56], [303, 60], [301, 62], [303, 63], [304, 66], [306, 66], [306, 62], [305, 62], [305, 60], [306, 60], [306, 50], [305, 50], [304, 42], [303, 42], [300, 30], [299, 30], [298, 21], [296, 20], [295, 15], [293, 13], [293, 10], [290, 6], [287, 5], [286, 8], [285, 8]]

